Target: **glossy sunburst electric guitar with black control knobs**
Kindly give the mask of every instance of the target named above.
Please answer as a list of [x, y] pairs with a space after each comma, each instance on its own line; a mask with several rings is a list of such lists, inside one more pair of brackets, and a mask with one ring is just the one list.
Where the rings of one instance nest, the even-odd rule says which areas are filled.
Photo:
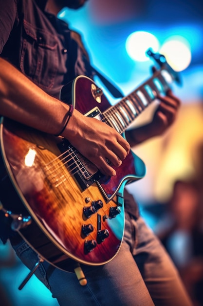
[[[85, 76], [64, 86], [61, 100], [125, 137], [157, 94], [180, 82], [162, 55], [148, 53], [160, 69], [116, 105]], [[72, 271], [73, 262], [102, 265], [116, 256], [124, 235], [124, 186], [146, 173], [137, 155], [130, 151], [116, 176], [106, 177], [63, 137], [7, 118], [1, 118], [0, 151], [0, 208], [42, 259]]]

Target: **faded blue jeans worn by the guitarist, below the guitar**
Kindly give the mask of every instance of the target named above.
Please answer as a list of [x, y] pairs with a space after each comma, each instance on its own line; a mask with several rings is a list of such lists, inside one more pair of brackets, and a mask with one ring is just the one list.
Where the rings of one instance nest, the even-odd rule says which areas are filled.
[[[128, 213], [125, 219], [116, 257], [103, 266], [83, 266], [87, 285], [47, 262], [40, 263], [36, 276], [60, 306], [191, 306], [176, 268], [145, 221]], [[32, 269], [37, 254], [24, 241], [14, 248]]]

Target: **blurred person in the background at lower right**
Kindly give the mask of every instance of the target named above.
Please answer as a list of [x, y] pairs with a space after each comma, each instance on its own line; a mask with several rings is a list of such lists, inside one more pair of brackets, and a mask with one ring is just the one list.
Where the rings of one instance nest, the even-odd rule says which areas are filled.
[[[156, 232], [195, 306], [203, 305], [203, 199], [197, 179], [177, 180]], [[160, 226], [161, 225], [161, 226]]]

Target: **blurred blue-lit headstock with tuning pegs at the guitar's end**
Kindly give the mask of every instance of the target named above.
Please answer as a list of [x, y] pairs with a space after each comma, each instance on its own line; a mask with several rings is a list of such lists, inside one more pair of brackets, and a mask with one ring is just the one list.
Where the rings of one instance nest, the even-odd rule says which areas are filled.
[[167, 63], [166, 57], [163, 54], [154, 53], [151, 48], [149, 48], [146, 53], [155, 61], [155, 63], [159, 65], [160, 68], [166, 69], [178, 85], [182, 85], [180, 74], [173, 70], [173, 68]]

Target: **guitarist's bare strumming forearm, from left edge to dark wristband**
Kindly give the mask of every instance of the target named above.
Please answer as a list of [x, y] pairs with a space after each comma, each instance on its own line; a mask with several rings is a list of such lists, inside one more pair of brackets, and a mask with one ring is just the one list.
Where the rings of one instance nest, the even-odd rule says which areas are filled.
[[57, 133], [69, 109], [0, 58], [0, 114], [40, 131]]

